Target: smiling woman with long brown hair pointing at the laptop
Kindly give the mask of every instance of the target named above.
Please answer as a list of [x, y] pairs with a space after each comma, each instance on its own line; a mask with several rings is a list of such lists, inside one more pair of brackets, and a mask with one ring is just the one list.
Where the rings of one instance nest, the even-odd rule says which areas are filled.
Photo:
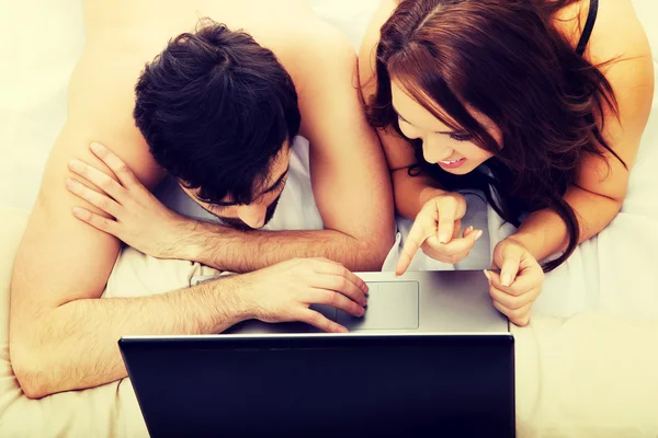
[[[468, 255], [460, 189], [518, 227], [494, 251], [494, 304], [519, 325], [544, 272], [619, 212], [654, 92], [627, 0], [385, 1], [364, 36], [362, 89], [419, 247]], [[538, 262], [544, 262], [543, 267]]]

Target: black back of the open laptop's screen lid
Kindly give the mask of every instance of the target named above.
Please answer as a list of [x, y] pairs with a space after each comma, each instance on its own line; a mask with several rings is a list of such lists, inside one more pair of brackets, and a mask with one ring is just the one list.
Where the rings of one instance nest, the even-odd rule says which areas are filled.
[[120, 342], [152, 437], [513, 436], [513, 338], [273, 335]]

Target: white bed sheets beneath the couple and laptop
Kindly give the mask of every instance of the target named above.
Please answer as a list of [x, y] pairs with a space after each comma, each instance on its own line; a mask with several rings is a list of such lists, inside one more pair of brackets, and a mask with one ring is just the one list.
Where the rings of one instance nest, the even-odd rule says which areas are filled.
[[[9, 3], [9, 2], [7, 2]], [[356, 47], [375, 0], [310, 0]], [[658, 5], [634, 0], [651, 42], [658, 73]], [[0, 83], [0, 437], [146, 436], [129, 379], [33, 401], [11, 370], [9, 275], [39, 177], [66, 117], [69, 76], [84, 42], [79, 1], [5, 4], [8, 44]], [[658, 82], [658, 81], [657, 81]], [[520, 437], [658, 436], [658, 96], [621, 214], [569, 262], [549, 274], [531, 325], [514, 328], [517, 426]], [[509, 233], [485, 210], [490, 255]], [[404, 229], [402, 221], [399, 222]], [[422, 267], [422, 261], [419, 261]], [[135, 293], [185, 284], [205, 267], [154, 263], [122, 254], [105, 296], [138, 283], [135, 266], [156, 283]], [[177, 283], [178, 281], [178, 283]]]

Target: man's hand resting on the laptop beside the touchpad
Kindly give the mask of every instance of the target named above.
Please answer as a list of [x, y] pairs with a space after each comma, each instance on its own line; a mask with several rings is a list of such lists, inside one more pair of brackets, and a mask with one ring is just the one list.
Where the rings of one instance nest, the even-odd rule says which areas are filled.
[[339, 263], [327, 258], [294, 258], [245, 274], [242, 298], [249, 316], [263, 322], [300, 321], [325, 332], [348, 330], [309, 307], [328, 304], [354, 316], [363, 316], [366, 284]]

